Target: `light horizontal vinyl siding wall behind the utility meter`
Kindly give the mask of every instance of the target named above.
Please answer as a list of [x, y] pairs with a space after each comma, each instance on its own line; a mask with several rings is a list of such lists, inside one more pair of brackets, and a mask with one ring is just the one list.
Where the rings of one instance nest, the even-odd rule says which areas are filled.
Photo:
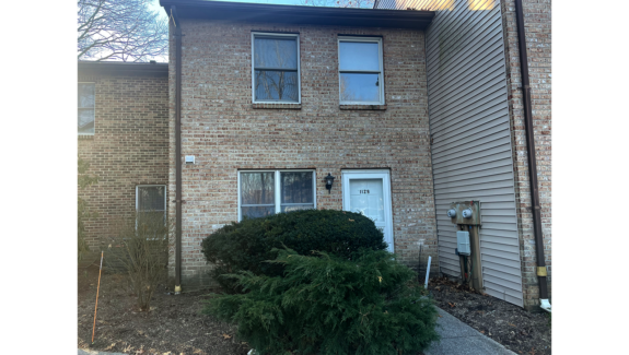
[[[385, 3], [381, 3], [381, 7]], [[498, 0], [406, 1], [436, 15], [427, 29], [439, 260], [459, 276], [451, 202], [481, 202], [485, 292], [523, 306], [502, 19]]]

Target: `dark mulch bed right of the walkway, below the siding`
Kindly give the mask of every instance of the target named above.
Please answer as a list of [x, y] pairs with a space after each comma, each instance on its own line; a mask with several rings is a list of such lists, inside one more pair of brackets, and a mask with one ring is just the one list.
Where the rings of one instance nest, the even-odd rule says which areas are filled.
[[516, 354], [552, 354], [547, 313], [532, 313], [501, 299], [470, 293], [447, 279], [428, 285], [436, 306]]

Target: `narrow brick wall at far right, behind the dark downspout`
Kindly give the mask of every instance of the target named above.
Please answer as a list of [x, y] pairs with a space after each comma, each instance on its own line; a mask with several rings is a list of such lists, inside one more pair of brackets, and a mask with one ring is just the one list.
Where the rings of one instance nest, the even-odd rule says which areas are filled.
[[[539, 304], [515, 2], [502, 0], [525, 307]], [[548, 291], [552, 298], [552, 1], [523, 0]]]

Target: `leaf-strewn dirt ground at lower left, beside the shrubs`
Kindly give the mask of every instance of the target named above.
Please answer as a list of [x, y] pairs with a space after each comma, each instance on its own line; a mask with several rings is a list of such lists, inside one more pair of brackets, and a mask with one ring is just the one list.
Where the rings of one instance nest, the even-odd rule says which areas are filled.
[[123, 275], [103, 273], [91, 343], [98, 268], [77, 269], [77, 347], [143, 355], [244, 355], [235, 328], [200, 315], [208, 291], [168, 295], [161, 285], [140, 312]]

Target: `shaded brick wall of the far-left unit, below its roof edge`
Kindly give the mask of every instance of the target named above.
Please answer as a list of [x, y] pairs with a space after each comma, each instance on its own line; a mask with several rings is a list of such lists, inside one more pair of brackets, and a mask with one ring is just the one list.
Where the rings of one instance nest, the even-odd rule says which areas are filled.
[[136, 209], [137, 185], [167, 185], [168, 107], [166, 76], [116, 76], [77, 73], [77, 82], [95, 82], [95, 134], [77, 137], [77, 153], [88, 161], [98, 184], [77, 188], [90, 210], [88, 244], [100, 250], [100, 237]]

